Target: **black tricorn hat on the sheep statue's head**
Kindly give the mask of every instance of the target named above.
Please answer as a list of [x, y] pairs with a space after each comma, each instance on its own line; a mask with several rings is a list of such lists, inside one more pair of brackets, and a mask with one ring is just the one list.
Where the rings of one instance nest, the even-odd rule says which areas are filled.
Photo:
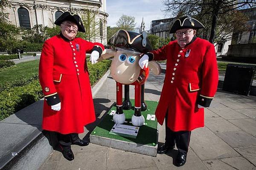
[[140, 53], [153, 50], [145, 31], [140, 34], [134, 31], [120, 29], [108, 40], [108, 45], [129, 51], [138, 51]]

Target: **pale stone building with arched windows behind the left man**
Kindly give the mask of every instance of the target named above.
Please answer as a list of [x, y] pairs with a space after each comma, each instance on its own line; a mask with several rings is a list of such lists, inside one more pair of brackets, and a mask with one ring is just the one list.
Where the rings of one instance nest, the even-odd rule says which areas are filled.
[[[30, 29], [35, 25], [54, 27], [55, 20], [64, 12], [80, 15], [89, 10], [93, 14], [96, 36], [92, 42], [107, 44], [106, 0], [9, 0], [9, 21], [17, 27]], [[94, 25], [94, 24], [93, 24]]]

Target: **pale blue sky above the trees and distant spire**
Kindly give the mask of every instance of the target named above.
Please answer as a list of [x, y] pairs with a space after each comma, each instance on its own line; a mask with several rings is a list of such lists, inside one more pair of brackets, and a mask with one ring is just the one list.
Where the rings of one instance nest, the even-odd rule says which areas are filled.
[[162, 0], [107, 0], [108, 26], [116, 26], [122, 14], [134, 16], [137, 27], [144, 17], [145, 30], [150, 29], [151, 20], [165, 18]]

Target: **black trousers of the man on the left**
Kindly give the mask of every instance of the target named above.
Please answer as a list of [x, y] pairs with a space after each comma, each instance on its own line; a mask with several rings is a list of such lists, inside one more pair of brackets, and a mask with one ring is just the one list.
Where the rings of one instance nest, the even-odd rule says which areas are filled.
[[56, 132], [58, 143], [62, 150], [71, 149], [71, 144], [79, 140], [78, 133], [61, 134]]

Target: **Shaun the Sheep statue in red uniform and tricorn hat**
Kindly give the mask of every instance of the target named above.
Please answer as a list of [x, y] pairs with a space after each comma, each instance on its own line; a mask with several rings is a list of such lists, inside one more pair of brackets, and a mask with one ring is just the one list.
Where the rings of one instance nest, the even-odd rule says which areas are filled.
[[139, 34], [133, 31], [119, 30], [108, 41], [108, 45], [113, 49], [103, 51], [97, 61], [113, 57], [111, 76], [116, 81], [116, 113], [113, 115], [113, 121], [118, 124], [125, 122], [122, 105], [122, 85], [135, 85], [134, 115], [131, 118], [131, 122], [134, 126], [141, 126], [145, 122], [141, 114], [141, 85], [144, 85], [149, 70], [153, 71], [155, 75], [160, 74], [160, 65], [155, 61], [151, 61], [148, 63], [148, 68], [141, 69], [139, 66], [140, 54], [152, 50], [145, 31]]

